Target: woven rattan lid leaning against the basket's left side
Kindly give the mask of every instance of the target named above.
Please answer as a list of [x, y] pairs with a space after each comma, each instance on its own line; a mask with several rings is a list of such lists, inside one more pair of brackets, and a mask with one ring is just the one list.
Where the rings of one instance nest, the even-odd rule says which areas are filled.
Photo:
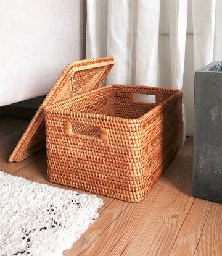
[[98, 88], [113, 65], [113, 57], [88, 59], [68, 64], [17, 143], [9, 157], [9, 162], [22, 161], [45, 147], [44, 108], [47, 105]]

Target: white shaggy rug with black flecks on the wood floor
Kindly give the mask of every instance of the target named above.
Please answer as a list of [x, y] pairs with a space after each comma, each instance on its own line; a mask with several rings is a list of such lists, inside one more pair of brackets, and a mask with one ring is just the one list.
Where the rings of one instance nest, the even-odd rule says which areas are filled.
[[57, 256], [97, 218], [102, 200], [0, 171], [0, 255]]

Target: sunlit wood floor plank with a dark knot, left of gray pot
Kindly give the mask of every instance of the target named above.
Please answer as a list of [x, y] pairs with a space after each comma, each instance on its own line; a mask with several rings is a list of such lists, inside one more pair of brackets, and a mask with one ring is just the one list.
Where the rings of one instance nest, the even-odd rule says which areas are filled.
[[[189, 192], [191, 190], [190, 183], [187, 182], [184, 188], [184, 191]], [[181, 224], [192, 207], [193, 200], [188, 195], [179, 193], [175, 193], [173, 200], [170, 198], [170, 194], [166, 193], [163, 196], [162, 205], [152, 210], [149, 220], [133, 237], [122, 255], [129, 255], [130, 253], [139, 255], [140, 252], [142, 255], [149, 253], [151, 255], [169, 255]]]

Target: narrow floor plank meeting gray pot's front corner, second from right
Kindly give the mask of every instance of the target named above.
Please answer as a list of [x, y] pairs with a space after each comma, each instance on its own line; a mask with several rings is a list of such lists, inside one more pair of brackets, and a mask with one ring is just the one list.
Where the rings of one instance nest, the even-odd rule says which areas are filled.
[[191, 211], [189, 211], [173, 244], [171, 256], [194, 255], [210, 207], [211, 202], [195, 198]]

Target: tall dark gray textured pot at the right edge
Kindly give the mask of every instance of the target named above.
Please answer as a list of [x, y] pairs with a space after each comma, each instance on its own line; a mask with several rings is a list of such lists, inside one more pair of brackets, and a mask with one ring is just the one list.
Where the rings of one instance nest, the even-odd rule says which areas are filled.
[[222, 62], [195, 72], [192, 194], [222, 203]]

